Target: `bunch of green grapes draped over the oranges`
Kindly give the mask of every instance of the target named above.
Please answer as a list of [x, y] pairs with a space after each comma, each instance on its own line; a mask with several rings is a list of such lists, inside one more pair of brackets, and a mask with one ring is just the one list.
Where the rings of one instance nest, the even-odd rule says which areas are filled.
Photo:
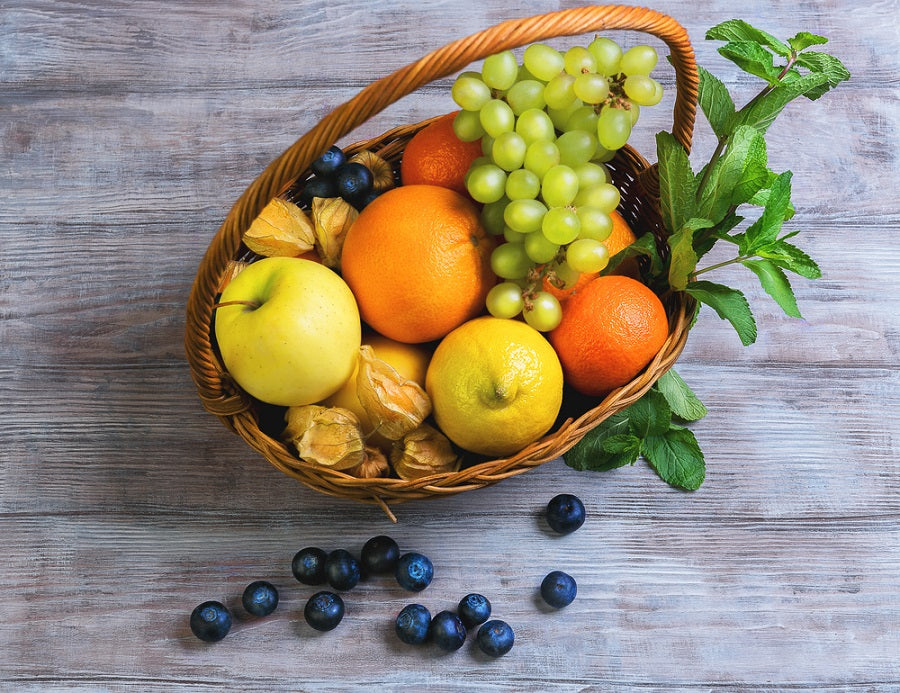
[[484, 156], [466, 187], [484, 204], [482, 222], [505, 242], [491, 256], [504, 279], [487, 296], [495, 317], [525, 321], [542, 332], [562, 319], [545, 278], [560, 288], [606, 267], [603, 241], [619, 204], [604, 163], [628, 141], [642, 106], [654, 106], [662, 86], [651, 78], [652, 46], [627, 51], [609, 38], [561, 53], [536, 43], [520, 65], [512, 51], [464, 72], [451, 96], [464, 141], [480, 139]]

